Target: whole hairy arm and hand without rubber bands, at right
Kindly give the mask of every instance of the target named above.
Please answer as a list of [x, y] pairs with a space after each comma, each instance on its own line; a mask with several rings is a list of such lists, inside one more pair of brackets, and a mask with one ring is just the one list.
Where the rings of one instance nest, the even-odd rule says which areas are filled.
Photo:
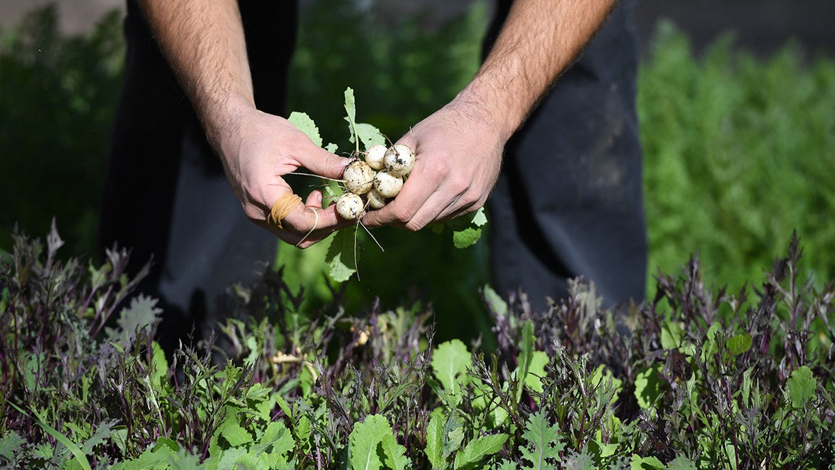
[[471, 82], [399, 142], [417, 164], [397, 199], [363, 219], [418, 230], [482, 207], [504, 145], [605, 22], [616, 0], [516, 0]]

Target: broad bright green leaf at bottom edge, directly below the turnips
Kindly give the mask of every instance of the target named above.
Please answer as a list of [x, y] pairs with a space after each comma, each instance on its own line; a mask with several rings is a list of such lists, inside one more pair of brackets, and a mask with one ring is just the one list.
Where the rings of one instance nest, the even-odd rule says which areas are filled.
[[[382, 448], [387, 467], [403, 468], [405, 461], [403, 453], [406, 448], [397, 444], [392, 427], [385, 416], [367, 416], [365, 421], [358, 422], [348, 437], [351, 467], [354, 470], [371, 470], [382, 467], [377, 447]], [[392, 443], [392, 441], [394, 441]]]

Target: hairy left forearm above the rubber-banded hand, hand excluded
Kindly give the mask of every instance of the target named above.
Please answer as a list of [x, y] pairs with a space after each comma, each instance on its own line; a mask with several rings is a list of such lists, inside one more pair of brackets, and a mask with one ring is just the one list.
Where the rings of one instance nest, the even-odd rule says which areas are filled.
[[[254, 107], [240, 12], [235, 0], [140, 0], [154, 36], [215, 148]], [[218, 149], [220, 151], [220, 149]]]

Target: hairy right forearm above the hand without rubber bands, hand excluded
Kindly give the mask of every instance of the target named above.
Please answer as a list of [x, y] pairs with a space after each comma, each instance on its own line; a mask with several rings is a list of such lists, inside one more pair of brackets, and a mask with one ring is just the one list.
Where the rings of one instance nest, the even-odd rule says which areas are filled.
[[516, 0], [490, 54], [458, 95], [505, 140], [522, 125], [617, 0]]

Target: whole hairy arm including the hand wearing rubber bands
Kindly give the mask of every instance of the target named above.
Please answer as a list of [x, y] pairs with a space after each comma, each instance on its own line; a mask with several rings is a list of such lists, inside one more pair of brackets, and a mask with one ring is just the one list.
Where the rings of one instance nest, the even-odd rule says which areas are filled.
[[[154, 36], [223, 161], [227, 179], [252, 222], [302, 247], [340, 222], [321, 193], [299, 204], [279, 230], [266, 223], [273, 202], [291, 193], [281, 176], [305, 166], [331, 178], [346, 159], [313, 144], [287, 120], [256, 109], [240, 11], [235, 0], [140, 0]], [[344, 223], [342, 223], [344, 225]]]

